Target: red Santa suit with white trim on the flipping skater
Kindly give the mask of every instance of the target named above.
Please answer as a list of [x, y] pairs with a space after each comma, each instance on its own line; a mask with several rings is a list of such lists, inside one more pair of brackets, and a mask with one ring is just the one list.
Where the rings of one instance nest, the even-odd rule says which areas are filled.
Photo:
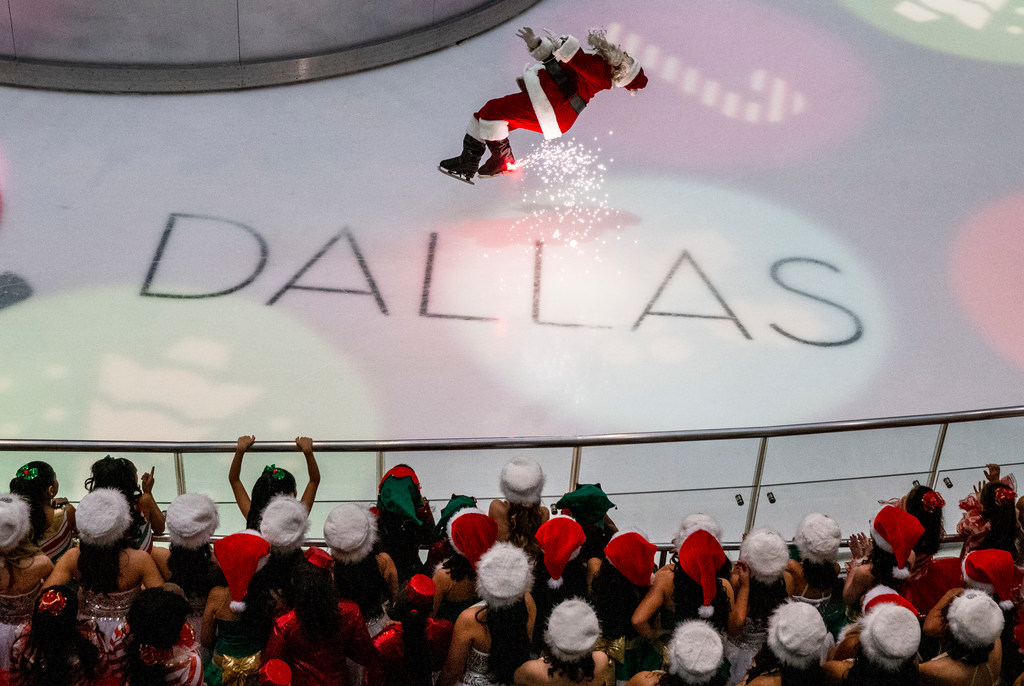
[[[530, 50], [530, 55], [541, 61], [554, 57], [569, 82], [575, 81], [574, 94], [583, 103], [602, 90], [616, 86], [636, 90], [647, 84], [647, 77], [635, 59], [632, 69], [613, 80], [611, 66], [601, 55], [582, 50], [580, 41], [572, 36], [554, 41], [542, 38], [541, 44]], [[525, 91], [488, 100], [474, 113], [470, 135], [479, 140], [502, 140], [508, 138], [511, 129], [526, 129], [543, 133], [550, 139], [572, 127], [579, 117], [570, 101], [572, 93], [563, 93], [543, 65], [527, 66], [522, 80]]]

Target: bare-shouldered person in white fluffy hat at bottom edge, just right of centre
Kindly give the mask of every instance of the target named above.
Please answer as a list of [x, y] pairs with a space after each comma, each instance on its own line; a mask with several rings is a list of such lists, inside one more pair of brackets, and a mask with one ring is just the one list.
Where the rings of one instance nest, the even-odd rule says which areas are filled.
[[593, 607], [579, 598], [562, 601], [548, 617], [541, 657], [515, 671], [516, 686], [603, 684], [608, 656], [594, 649], [600, 635]]

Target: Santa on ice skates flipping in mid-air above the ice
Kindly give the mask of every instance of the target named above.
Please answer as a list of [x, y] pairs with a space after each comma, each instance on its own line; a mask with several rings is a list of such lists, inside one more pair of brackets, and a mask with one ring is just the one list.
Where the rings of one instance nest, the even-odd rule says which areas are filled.
[[[580, 47], [572, 36], [541, 38], [529, 27], [516, 32], [540, 61], [526, 67], [520, 90], [487, 100], [473, 115], [462, 141], [462, 155], [442, 160], [437, 169], [467, 183], [474, 176], [489, 178], [507, 174], [515, 166], [509, 131], [525, 129], [557, 138], [575, 123], [591, 98], [602, 90], [625, 88], [635, 94], [647, 85], [640, 62], [608, 42], [603, 30], [593, 30], [587, 43], [594, 52]], [[484, 145], [490, 157], [483, 165]]]

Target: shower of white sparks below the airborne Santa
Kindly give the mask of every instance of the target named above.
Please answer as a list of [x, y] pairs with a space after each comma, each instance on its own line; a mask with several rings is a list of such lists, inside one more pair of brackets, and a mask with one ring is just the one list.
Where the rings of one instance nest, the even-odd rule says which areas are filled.
[[[585, 243], [603, 244], [601, 233], [612, 228], [608, 223], [616, 213], [608, 207], [607, 194], [602, 192], [607, 166], [600, 152], [600, 147], [591, 149], [575, 140], [559, 138], [545, 141], [519, 160], [516, 168], [525, 170], [523, 205], [528, 214], [511, 230], [519, 233], [529, 229], [545, 242], [560, 242], [578, 250]], [[621, 227], [616, 224], [613, 228]]]

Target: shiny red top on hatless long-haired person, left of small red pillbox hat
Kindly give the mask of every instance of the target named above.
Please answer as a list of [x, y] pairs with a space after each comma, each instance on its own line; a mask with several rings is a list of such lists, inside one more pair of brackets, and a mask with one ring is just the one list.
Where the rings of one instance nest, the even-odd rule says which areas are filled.
[[287, 662], [292, 669], [292, 686], [357, 686], [348, 683], [348, 658], [367, 668], [368, 684], [380, 684], [377, 649], [358, 606], [342, 600], [338, 611], [341, 613], [338, 634], [317, 642], [303, 635], [295, 610], [274, 619], [263, 649], [263, 663], [275, 657]]

